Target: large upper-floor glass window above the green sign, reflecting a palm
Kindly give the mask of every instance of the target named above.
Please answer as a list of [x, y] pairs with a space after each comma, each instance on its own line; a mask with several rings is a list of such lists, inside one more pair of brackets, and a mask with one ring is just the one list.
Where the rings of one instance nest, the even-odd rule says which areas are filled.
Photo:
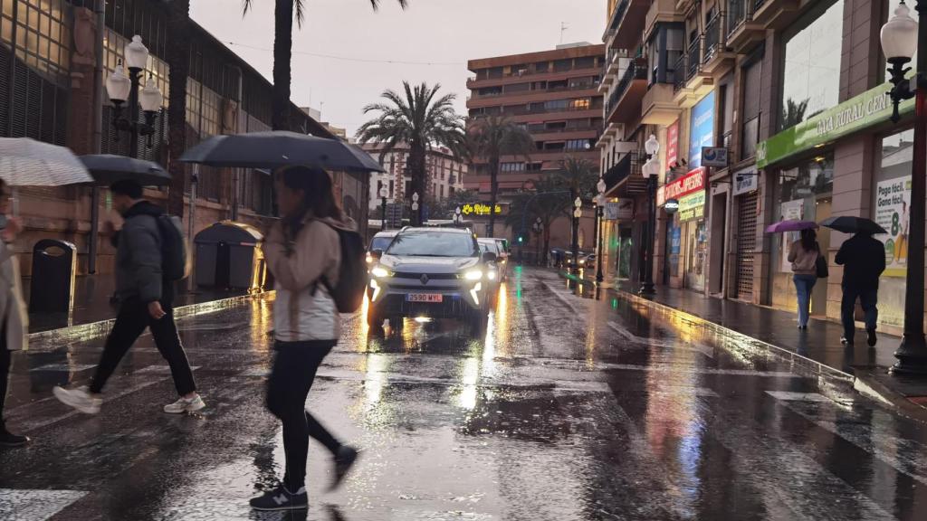
[[823, 2], [785, 37], [780, 130], [831, 108], [840, 99], [844, 0]]

